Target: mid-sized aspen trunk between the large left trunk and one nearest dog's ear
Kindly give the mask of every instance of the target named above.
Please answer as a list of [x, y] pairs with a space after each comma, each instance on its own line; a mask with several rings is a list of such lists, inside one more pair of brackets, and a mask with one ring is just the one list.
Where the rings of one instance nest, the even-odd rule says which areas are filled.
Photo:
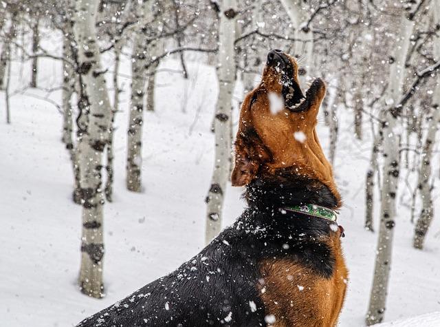
[[136, 10], [139, 21], [135, 29], [133, 53], [131, 54], [131, 101], [128, 129], [126, 187], [130, 191], [142, 191], [142, 125], [144, 123], [145, 65], [148, 44], [142, 32], [145, 24], [153, 19], [155, 1], [144, 0], [142, 9]]

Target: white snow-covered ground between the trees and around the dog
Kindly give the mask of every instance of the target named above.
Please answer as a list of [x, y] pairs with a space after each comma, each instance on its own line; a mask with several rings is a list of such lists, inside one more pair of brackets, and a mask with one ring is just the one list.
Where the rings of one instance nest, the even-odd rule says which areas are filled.
[[[172, 271], [203, 247], [203, 200], [212, 169], [210, 123], [217, 81], [212, 67], [196, 61], [188, 63], [188, 80], [164, 68], [179, 70], [179, 64], [166, 61], [157, 76], [156, 112], [146, 112], [144, 119], [144, 191], [136, 194], [124, 187], [129, 79], [123, 76], [130, 70], [128, 61], [122, 65], [124, 92], [115, 122], [115, 194], [114, 202], [105, 207], [104, 299], [85, 297], [76, 285], [81, 209], [71, 200], [72, 171], [61, 143], [61, 114], [40, 99], [46, 92], [30, 89], [12, 96], [12, 124], [6, 125], [0, 92], [0, 326], [73, 326]], [[28, 83], [29, 65], [14, 63], [12, 72], [12, 91]], [[60, 63], [40, 61], [42, 87], [59, 85], [60, 77]], [[52, 92], [49, 98], [59, 103], [60, 92]], [[240, 98], [237, 89], [236, 99]], [[340, 326], [345, 327], [363, 326], [377, 236], [362, 227], [369, 142], [352, 136], [352, 116], [346, 111], [339, 114], [334, 166], [344, 198], [339, 222], [347, 235], [343, 245], [350, 270], [340, 318]], [[327, 148], [323, 122], [318, 131]], [[225, 225], [243, 210], [241, 191], [227, 190]], [[437, 218], [424, 251], [412, 249], [409, 209], [400, 206], [386, 321], [440, 310], [438, 192], [435, 201]], [[440, 323], [384, 326], [434, 325]]]

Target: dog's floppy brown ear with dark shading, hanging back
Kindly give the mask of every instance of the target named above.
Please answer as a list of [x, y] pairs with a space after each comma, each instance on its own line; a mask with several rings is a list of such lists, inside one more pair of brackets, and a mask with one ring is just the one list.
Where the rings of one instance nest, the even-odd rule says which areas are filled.
[[256, 176], [263, 162], [270, 161], [270, 152], [254, 130], [237, 136], [232, 186], [245, 186]]

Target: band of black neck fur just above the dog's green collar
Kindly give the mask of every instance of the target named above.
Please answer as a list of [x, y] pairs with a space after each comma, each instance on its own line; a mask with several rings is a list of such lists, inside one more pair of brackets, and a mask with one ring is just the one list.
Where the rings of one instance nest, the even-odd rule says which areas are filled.
[[246, 186], [244, 197], [250, 208], [259, 211], [274, 211], [300, 204], [338, 208], [338, 198], [331, 193], [329, 187], [319, 180], [298, 176], [289, 169], [257, 176]]

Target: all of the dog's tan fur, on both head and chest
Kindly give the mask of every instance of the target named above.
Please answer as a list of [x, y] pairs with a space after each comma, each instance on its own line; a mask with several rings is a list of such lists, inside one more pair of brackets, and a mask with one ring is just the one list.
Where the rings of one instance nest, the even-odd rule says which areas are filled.
[[[298, 82], [298, 65], [292, 56], [293, 78]], [[325, 86], [311, 96], [303, 112], [284, 108], [273, 114], [269, 94], [281, 96], [278, 72], [266, 66], [263, 78], [241, 107], [239, 130], [235, 143], [235, 167], [232, 184], [243, 186], [257, 173], [276, 175], [289, 167], [298, 176], [319, 180], [329, 187], [340, 207], [341, 199], [333, 180], [331, 165], [325, 158], [316, 134], [316, 116], [325, 96]], [[254, 103], [251, 103], [251, 101]], [[294, 137], [296, 132], [306, 136], [303, 143]], [[263, 278], [257, 284], [265, 304], [266, 315], [274, 315], [274, 327], [333, 327], [344, 302], [348, 271], [342, 256], [340, 232], [318, 240], [327, 244], [336, 258], [333, 275], [327, 279], [310, 268], [287, 257], [270, 258], [261, 262]], [[319, 246], [317, 242], [317, 246]], [[301, 289], [300, 289], [301, 288]]]

